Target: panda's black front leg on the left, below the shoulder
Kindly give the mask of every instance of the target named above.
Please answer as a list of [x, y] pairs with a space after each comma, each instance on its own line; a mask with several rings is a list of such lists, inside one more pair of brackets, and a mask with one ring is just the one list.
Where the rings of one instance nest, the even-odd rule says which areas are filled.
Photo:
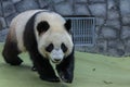
[[38, 52], [30, 53], [30, 58], [41, 79], [48, 82], [60, 82], [60, 78], [55, 75], [48, 59], [43, 58]]

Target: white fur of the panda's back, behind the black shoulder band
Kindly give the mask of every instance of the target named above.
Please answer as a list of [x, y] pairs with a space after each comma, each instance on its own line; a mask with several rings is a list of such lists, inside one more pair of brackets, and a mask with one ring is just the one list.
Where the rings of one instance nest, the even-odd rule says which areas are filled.
[[17, 47], [20, 51], [26, 51], [23, 40], [23, 35], [25, 30], [25, 26], [29, 18], [35, 15], [37, 12], [40, 12], [42, 10], [30, 10], [23, 12], [18, 14], [16, 17], [14, 17], [10, 25], [10, 35], [13, 37], [12, 40], [17, 42]]

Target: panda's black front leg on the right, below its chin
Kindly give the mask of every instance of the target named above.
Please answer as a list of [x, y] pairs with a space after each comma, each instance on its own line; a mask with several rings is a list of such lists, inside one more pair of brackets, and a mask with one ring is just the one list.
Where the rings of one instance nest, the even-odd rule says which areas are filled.
[[63, 62], [56, 65], [57, 73], [63, 82], [73, 83], [74, 79], [74, 65], [75, 57], [74, 52], [63, 60]]

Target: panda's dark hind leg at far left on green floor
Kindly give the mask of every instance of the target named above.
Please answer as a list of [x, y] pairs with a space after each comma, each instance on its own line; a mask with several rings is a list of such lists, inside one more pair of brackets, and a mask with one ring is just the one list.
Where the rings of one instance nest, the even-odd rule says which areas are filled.
[[21, 53], [17, 49], [17, 45], [15, 42], [5, 41], [2, 55], [4, 61], [11, 65], [20, 65], [23, 61], [17, 57]]

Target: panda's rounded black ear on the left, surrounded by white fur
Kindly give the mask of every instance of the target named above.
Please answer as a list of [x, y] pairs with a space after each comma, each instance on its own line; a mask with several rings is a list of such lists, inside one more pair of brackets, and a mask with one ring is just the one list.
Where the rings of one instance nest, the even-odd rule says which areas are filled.
[[41, 33], [47, 32], [49, 29], [49, 27], [50, 27], [50, 25], [47, 21], [38, 23], [38, 25], [37, 25], [38, 34], [40, 35]]

